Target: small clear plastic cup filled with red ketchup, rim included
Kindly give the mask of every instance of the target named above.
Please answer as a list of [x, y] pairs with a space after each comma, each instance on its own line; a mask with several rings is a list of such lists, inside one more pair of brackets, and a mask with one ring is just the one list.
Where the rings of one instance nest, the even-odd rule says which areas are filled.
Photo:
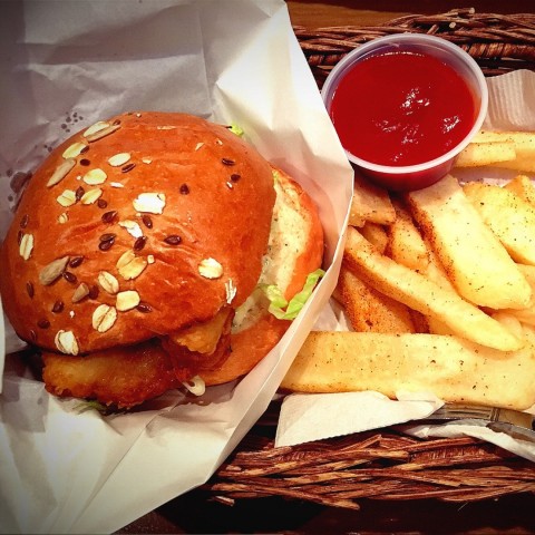
[[446, 175], [488, 106], [485, 77], [467, 52], [414, 33], [349, 52], [321, 94], [349, 160], [391, 191], [418, 189]]

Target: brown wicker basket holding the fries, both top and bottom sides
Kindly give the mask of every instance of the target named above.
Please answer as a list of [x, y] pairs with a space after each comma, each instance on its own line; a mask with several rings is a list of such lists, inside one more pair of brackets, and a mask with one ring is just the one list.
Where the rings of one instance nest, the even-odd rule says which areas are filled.
[[[377, 27], [344, 26], [295, 35], [319, 87], [350, 50], [377, 37], [420, 32], [464, 48], [486, 76], [535, 70], [535, 14], [475, 13], [402, 17]], [[396, 428], [274, 448], [278, 406], [250, 431], [204, 486], [215, 499], [282, 496], [359, 508], [363, 498], [474, 502], [535, 493], [535, 464], [474, 438], [420, 440]]]

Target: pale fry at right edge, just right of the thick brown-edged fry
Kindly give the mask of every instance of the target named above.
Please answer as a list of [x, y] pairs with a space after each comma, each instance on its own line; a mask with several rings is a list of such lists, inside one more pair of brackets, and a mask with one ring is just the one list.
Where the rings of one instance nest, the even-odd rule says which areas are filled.
[[535, 265], [535, 207], [495, 184], [470, 182], [464, 191], [513, 260]]

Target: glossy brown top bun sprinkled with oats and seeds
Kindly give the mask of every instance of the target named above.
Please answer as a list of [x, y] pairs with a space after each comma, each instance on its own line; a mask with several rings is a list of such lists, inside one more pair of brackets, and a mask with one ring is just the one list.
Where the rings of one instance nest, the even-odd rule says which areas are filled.
[[270, 164], [224, 126], [126, 114], [57, 147], [0, 253], [22, 339], [68, 354], [132, 344], [239, 307], [261, 273]]

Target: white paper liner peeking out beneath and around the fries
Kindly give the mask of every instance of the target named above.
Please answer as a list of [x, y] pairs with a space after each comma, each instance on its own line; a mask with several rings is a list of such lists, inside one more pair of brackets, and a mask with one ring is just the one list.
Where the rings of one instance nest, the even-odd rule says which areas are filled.
[[[518, 70], [487, 79], [489, 108], [484, 128], [495, 130], [535, 130], [535, 72]], [[455, 169], [459, 179], [500, 182], [518, 172], [508, 169]], [[534, 177], [532, 176], [532, 179]], [[317, 331], [351, 330], [348, 320], [332, 300], [325, 307], [314, 329]], [[535, 378], [534, 378], [535, 379]], [[281, 407], [276, 446], [349, 435], [369, 429], [419, 420], [431, 415], [442, 403], [432, 393], [398, 392], [390, 400], [378, 392], [348, 392], [288, 396]], [[529, 410], [535, 414], [535, 407]], [[517, 440], [474, 422], [447, 425], [407, 425], [406, 432], [420, 437], [473, 436], [496, 444], [514, 454], [535, 460], [535, 444]]]

